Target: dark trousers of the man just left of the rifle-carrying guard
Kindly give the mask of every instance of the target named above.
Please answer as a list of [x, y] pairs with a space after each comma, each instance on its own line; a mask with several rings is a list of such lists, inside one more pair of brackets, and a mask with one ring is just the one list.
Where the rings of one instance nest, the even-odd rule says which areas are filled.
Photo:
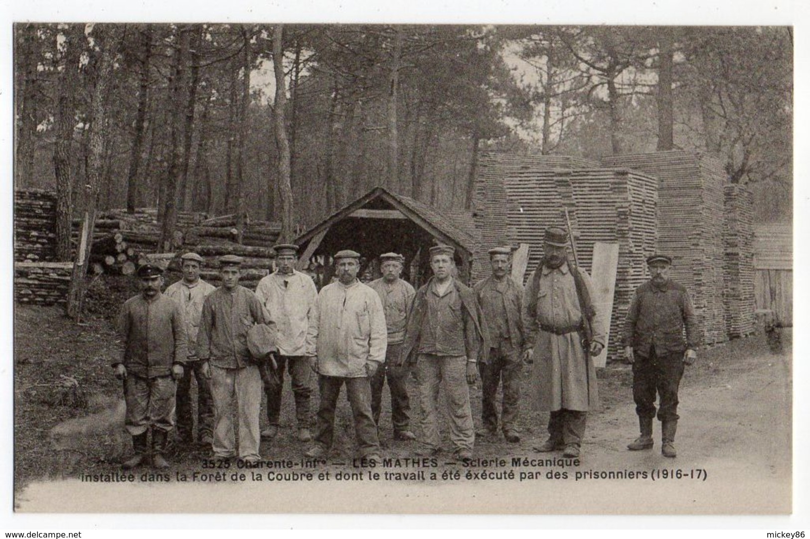
[[499, 346], [489, 349], [489, 363], [480, 363], [481, 421], [485, 429], [497, 431], [496, 397], [498, 384], [503, 380], [501, 425], [504, 432], [517, 430], [521, 369], [521, 350], [512, 346], [508, 339], [501, 341]]

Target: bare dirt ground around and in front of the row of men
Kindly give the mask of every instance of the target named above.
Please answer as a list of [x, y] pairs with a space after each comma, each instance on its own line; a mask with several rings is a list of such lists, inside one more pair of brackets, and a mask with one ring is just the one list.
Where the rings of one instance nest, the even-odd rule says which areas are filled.
[[[679, 456], [674, 460], [660, 455], [658, 425], [653, 450], [625, 449], [637, 435], [631, 373], [629, 366], [610, 365], [599, 371], [601, 406], [589, 415], [578, 463], [552, 468], [497, 466], [499, 457], [511, 462], [514, 456], [539, 456], [531, 447], [545, 439], [548, 414], [524, 405], [519, 444], [507, 444], [502, 437], [476, 444], [476, 458], [489, 462], [490, 467], [463, 467], [445, 452], [437, 468], [428, 469], [440, 475], [458, 471], [462, 476], [467, 471], [511, 469], [518, 473], [531, 469], [539, 472], [533, 481], [461, 477], [436, 482], [249, 482], [234, 489], [232, 484], [176, 482], [178, 472], [190, 476], [208, 471], [203, 468], [208, 454], [198, 448], [174, 448], [169, 456], [173, 462], [170, 482], [133, 486], [79, 480], [87, 473], [118, 472], [120, 462], [131, 451], [130, 438], [123, 430], [121, 383], [109, 367], [117, 355], [109, 316], [79, 326], [64, 318], [58, 308], [15, 306], [15, 506], [19, 511], [58, 512], [787, 513], [791, 511], [791, 334], [783, 337], [784, 350], [778, 354], [762, 337], [700, 350], [700, 359], [687, 367], [681, 385]], [[411, 395], [416, 395], [412, 381]], [[471, 397], [479, 425], [480, 386], [471, 390]], [[317, 402], [316, 390], [313, 411]], [[413, 397], [411, 417], [418, 417], [418, 402]], [[416, 444], [391, 440], [387, 389], [381, 422], [382, 456], [411, 457]], [[265, 423], [262, 408], [262, 427]], [[418, 434], [416, 419], [412, 423]], [[443, 431], [449, 449], [446, 429]], [[336, 415], [336, 434], [335, 448], [318, 471], [367, 473], [369, 470], [352, 468], [354, 435], [343, 398]], [[281, 433], [275, 440], [262, 441], [262, 456], [291, 460], [296, 463], [294, 471], [303, 471], [298, 463], [306, 446], [294, 436], [287, 380]], [[658, 483], [649, 477], [643, 483], [599, 478], [599, 473], [608, 471], [644, 470], [651, 475], [662, 469], [680, 469], [692, 478]], [[147, 470], [139, 473], [143, 471]], [[233, 471], [237, 470], [228, 470]], [[568, 472], [569, 477], [545, 477], [548, 471]], [[595, 477], [574, 481], [574, 472], [591, 472]], [[694, 478], [696, 473], [702, 478]], [[437, 486], [443, 488], [437, 490]], [[216, 495], [207, 495], [209, 491]], [[267, 498], [270, 492], [273, 502]], [[203, 493], [206, 495], [201, 497]], [[302, 499], [307, 502], [302, 504]]]

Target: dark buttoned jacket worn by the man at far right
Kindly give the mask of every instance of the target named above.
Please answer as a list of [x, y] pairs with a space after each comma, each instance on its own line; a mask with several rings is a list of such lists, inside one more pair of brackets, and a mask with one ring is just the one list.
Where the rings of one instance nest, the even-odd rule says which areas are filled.
[[655, 354], [661, 357], [687, 348], [694, 350], [699, 340], [695, 308], [683, 285], [669, 279], [661, 287], [648, 281], [637, 288], [627, 312], [625, 346], [633, 346], [633, 351], [644, 358], [654, 346]]

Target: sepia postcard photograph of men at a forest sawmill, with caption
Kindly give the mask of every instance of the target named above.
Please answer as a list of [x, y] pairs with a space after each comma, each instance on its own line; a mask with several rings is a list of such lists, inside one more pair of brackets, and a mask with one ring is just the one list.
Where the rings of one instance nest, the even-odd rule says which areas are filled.
[[15, 514], [794, 513], [793, 26], [262, 15], [11, 21]]

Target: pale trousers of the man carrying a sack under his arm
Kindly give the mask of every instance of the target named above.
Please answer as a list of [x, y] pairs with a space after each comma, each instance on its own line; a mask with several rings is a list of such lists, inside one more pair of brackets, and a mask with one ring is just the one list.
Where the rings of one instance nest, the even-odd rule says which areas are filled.
[[239, 414], [239, 456], [247, 460], [261, 458], [258, 452], [258, 414], [262, 406], [262, 376], [258, 367], [225, 369], [211, 366], [211, 395], [214, 397], [214, 456], [230, 458], [236, 454], [233, 428], [233, 398]]

